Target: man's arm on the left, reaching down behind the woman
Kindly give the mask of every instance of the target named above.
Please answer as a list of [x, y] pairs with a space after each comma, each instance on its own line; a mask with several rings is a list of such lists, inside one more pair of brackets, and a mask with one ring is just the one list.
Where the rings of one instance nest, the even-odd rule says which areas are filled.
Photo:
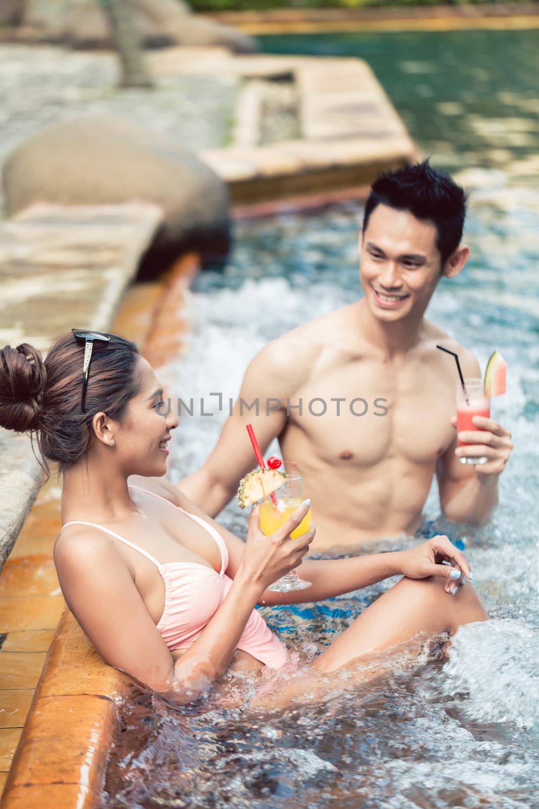
[[[293, 396], [293, 367], [283, 338], [272, 341], [247, 367], [238, 401], [212, 454], [178, 488], [214, 517], [238, 490], [238, 484], [257, 463], [246, 425], [252, 424], [264, 453], [286, 424], [286, 399]], [[251, 406], [255, 402], [254, 406]]]

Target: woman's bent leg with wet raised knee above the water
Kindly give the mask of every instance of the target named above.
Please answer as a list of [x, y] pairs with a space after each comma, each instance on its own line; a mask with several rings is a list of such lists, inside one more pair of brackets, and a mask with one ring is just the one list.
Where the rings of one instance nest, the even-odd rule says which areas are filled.
[[[470, 582], [457, 595], [444, 591], [445, 580], [402, 578], [370, 605], [329, 646], [312, 667], [335, 671], [351, 660], [409, 641], [421, 632], [454, 633], [461, 624], [486, 621], [488, 615]], [[419, 641], [418, 641], [419, 646]]]

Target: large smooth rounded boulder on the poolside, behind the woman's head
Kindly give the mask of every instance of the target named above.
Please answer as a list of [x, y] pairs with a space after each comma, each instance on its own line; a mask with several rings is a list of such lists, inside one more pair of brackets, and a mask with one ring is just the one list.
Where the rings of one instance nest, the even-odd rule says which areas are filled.
[[191, 150], [122, 118], [84, 116], [42, 129], [8, 156], [2, 184], [8, 216], [34, 202], [157, 203], [164, 217], [142, 277], [186, 251], [208, 265], [229, 250], [229, 192], [221, 178]]

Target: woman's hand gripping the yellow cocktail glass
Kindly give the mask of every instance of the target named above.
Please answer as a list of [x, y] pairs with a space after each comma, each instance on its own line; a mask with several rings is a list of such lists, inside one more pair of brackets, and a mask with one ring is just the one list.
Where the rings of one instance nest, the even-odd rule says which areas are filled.
[[314, 525], [309, 531], [295, 539], [290, 534], [301, 523], [310, 507], [310, 501], [304, 500], [298, 506], [292, 517], [277, 531], [264, 536], [260, 530], [260, 506], [257, 503], [249, 515], [249, 529], [247, 541], [242, 553], [238, 574], [245, 575], [253, 582], [257, 582], [260, 593], [263, 593], [270, 584], [286, 575], [293, 568], [301, 565], [301, 559], [309, 550], [316, 533]]

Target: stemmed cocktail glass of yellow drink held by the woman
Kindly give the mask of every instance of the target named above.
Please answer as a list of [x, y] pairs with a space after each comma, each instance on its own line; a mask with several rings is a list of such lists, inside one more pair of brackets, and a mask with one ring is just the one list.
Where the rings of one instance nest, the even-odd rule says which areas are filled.
[[[303, 497], [303, 478], [301, 475], [287, 476], [283, 485], [280, 485], [273, 492], [273, 495], [274, 498], [271, 495], [263, 498], [260, 506], [260, 528], [265, 536], [270, 536], [284, 525], [292, 517], [297, 506], [301, 506], [301, 503], [305, 500]], [[274, 499], [276, 502], [274, 502]], [[310, 521], [311, 513], [309, 509], [290, 536], [296, 539], [297, 536], [305, 534], [310, 529]], [[305, 587], [310, 586], [311, 582], [305, 582], [302, 578], [299, 578], [296, 570], [291, 570], [286, 576], [282, 576], [271, 587], [268, 587], [268, 590], [277, 593], [288, 593], [292, 590], [305, 590]]]

